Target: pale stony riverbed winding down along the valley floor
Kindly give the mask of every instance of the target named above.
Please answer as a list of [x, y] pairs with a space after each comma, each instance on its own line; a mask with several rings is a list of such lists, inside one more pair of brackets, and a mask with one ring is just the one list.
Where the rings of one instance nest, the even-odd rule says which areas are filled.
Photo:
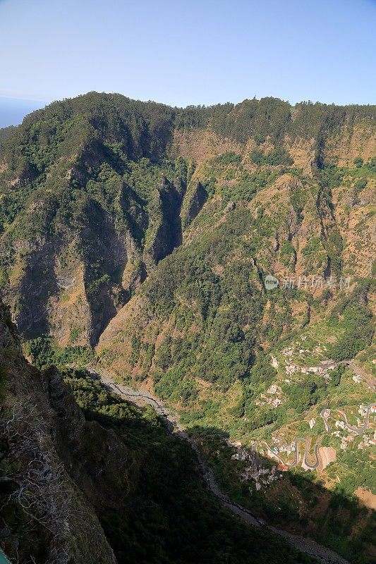
[[144, 403], [152, 405], [152, 407], [154, 407], [157, 413], [161, 415], [166, 422], [167, 429], [169, 429], [169, 431], [174, 434], [174, 436], [177, 436], [179, 439], [188, 441], [188, 443], [190, 443], [191, 448], [193, 448], [197, 456], [202, 478], [205, 480], [205, 483], [212, 491], [214, 496], [216, 496], [223, 505], [229, 508], [232, 513], [239, 515], [245, 522], [253, 525], [254, 527], [268, 527], [268, 529], [274, 532], [274, 534], [279, 535], [279, 537], [283, 537], [287, 542], [289, 542], [289, 544], [297, 548], [299, 551], [313, 556], [313, 558], [315, 558], [321, 564], [350, 564], [348, 560], [345, 560], [334, 551], [331, 551], [329, 548], [317, 544], [312, 539], [300, 537], [299, 535], [291, 534], [282, 529], [277, 529], [277, 527], [267, 525], [265, 521], [260, 519], [260, 517], [253, 515], [248, 509], [242, 507], [242, 505], [239, 505], [235, 501], [232, 501], [227, 496], [222, 494], [222, 491], [220, 491], [218, 484], [214, 479], [212, 471], [202, 460], [200, 450], [196, 446], [195, 442], [190, 438], [183, 427], [181, 427], [181, 425], [169, 415], [168, 410], [166, 410], [166, 407], [164, 407], [160, 400], [154, 398], [154, 396], [152, 396], [152, 394], [150, 393], [141, 392], [134, 390], [133, 388], [129, 388], [128, 386], [121, 386], [121, 384], [116, 384], [111, 379], [111, 376], [109, 376], [109, 374], [104, 374], [104, 372], [100, 372], [99, 374], [97, 369], [88, 369], [88, 371], [92, 378], [100, 379], [102, 384], [107, 389], [119, 394], [119, 396], [125, 398], [126, 400], [131, 400], [137, 405], [142, 405]]

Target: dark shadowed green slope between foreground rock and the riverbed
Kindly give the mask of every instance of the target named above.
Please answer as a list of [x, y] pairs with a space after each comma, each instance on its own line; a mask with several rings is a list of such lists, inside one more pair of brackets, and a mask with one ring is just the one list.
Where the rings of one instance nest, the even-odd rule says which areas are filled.
[[273, 564], [281, 556], [291, 564], [311, 562], [222, 508], [205, 486], [192, 448], [169, 434], [150, 406], [135, 409], [92, 379], [67, 381], [85, 406], [86, 422], [72, 441], [68, 410], [61, 410], [61, 456], [95, 508], [119, 564]]

